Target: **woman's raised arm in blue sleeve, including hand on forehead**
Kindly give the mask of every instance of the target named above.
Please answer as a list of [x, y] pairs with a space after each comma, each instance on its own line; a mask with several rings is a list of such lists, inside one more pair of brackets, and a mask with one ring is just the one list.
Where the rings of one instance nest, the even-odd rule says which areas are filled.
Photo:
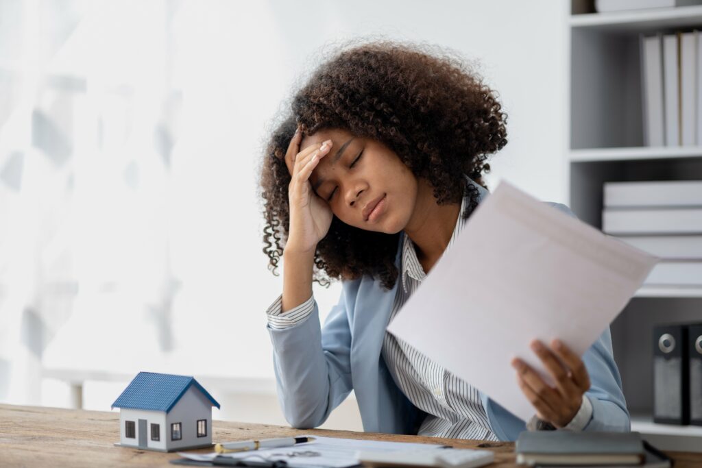
[[345, 293], [327, 317], [324, 332], [312, 296], [314, 252], [329, 232], [332, 213], [314, 194], [310, 174], [329, 154], [331, 140], [300, 151], [300, 126], [285, 163], [291, 176], [289, 235], [283, 252], [283, 293], [268, 308], [268, 331], [278, 399], [286, 420], [300, 429], [322, 424], [351, 391], [351, 332]]

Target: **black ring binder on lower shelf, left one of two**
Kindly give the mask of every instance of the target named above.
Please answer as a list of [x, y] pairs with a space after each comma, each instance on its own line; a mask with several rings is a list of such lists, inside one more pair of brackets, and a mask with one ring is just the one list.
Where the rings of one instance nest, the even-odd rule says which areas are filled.
[[687, 326], [654, 327], [654, 422], [687, 424], [689, 379]]

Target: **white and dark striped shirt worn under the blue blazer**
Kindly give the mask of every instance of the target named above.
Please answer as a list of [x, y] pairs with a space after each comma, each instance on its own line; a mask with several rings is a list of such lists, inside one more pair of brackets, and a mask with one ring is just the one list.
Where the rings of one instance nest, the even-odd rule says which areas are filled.
[[[463, 210], [470, 195], [464, 196], [458, 220], [453, 228], [446, 253], [453, 245], [463, 226]], [[443, 255], [443, 254], [442, 254]], [[401, 275], [398, 281], [395, 300], [390, 312], [390, 321], [400, 312], [409, 296], [426, 278], [420, 264], [414, 243], [409, 236], [404, 236], [402, 245]], [[296, 325], [307, 319], [314, 311], [314, 295], [308, 300], [282, 315], [282, 295], [267, 309], [267, 319], [271, 328], [282, 329]], [[418, 435], [447, 437], [451, 439], [482, 439], [498, 441], [492, 432], [480, 392], [456, 375], [439, 366], [435, 361], [420, 354], [404, 340], [399, 340], [390, 333], [383, 338], [383, 359], [390, 369], [397, 386], [414, 406], [420, 408], [427, 417], [421, 424]], [[515, 384], [516, 385], [516, 384]], [[578, 414], [566, 427], [580, 430], [592, 415], [592, 406], [583, 396], [583, 405]]]

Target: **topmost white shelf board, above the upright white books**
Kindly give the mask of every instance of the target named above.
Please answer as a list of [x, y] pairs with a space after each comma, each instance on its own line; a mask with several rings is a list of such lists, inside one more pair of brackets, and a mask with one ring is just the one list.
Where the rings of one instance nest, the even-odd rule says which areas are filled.
[[571, 15], [570, 25], [577, 29], [611, 29], [616, 32], [647, 32], [669, 27], [698, 27], [702, 25], [702, 6]]

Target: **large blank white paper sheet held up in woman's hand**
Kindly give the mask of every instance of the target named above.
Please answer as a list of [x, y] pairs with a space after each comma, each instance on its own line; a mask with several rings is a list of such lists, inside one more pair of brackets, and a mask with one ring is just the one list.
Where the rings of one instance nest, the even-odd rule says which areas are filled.
[[529, 342], [582, 356], [657, 260], [502, 182], [388, 331], [528, 421], [512, 358], [552, 382]]

